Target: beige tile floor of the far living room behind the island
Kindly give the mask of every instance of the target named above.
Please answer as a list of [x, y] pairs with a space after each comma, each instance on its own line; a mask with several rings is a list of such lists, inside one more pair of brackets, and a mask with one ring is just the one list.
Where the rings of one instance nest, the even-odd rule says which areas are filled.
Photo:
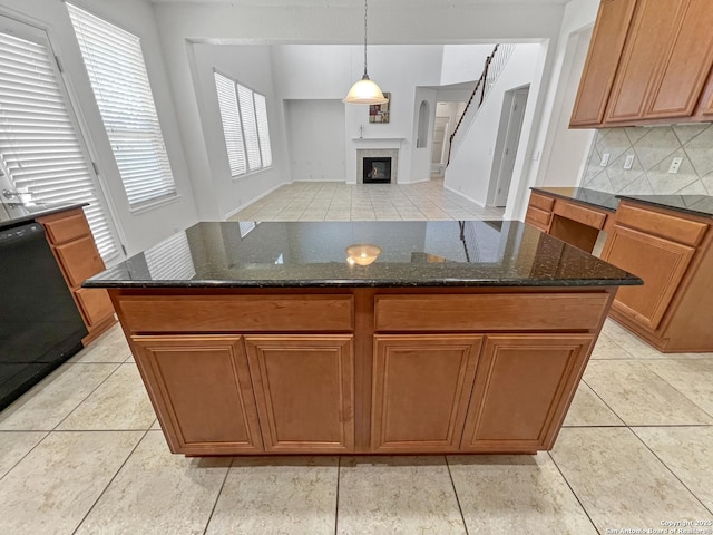
[[480, 207], [443, 189], [442, 179], [418, 184], [295, 182], [229, 217], [232, 221], [500, 220], [504, 208]]

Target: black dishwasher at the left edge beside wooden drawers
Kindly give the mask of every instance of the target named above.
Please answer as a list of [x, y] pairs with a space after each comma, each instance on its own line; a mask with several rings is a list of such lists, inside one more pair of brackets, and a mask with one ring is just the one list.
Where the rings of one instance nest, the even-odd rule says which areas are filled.
[[86, 334], [42, 225], [0, 230], [0, 410], [79, 351]]

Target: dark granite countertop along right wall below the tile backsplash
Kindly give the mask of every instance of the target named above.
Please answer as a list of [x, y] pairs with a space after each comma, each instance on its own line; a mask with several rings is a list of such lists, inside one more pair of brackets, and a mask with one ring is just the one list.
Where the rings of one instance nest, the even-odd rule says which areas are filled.
[[710, 195], [616, 195], [585, 187], [530, 187], [556, 197], [578, 201], [609, 212], [616, 212], [619, 200], [634, 201], [686, 214], [713, 217], [713, 196]]

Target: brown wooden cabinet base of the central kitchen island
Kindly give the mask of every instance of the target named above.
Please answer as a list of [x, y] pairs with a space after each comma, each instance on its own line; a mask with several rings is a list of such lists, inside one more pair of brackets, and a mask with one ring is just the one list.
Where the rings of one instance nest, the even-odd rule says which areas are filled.
[[612, 292], [111, 295], [174, 453], [443, 454], [551, 448]]

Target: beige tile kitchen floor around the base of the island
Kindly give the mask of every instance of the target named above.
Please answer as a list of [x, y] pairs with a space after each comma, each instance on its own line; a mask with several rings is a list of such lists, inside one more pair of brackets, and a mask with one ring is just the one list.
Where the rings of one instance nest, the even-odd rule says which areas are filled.
[[187, 459], [114, 328], [0, 412], [0, 534], [713, 534], [712, 386], [607, 320], [549, 453]]

